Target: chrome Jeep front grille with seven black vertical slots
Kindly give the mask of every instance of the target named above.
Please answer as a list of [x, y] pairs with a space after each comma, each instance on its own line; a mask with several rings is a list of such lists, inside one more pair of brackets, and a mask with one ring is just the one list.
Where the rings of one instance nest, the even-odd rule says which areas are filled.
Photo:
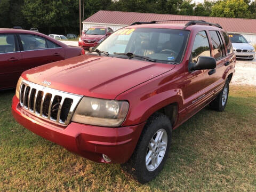
[[20, 85], [20, 105], [47, 121], [66, 126], [82, 95], [58, 91], [23, 80]]

